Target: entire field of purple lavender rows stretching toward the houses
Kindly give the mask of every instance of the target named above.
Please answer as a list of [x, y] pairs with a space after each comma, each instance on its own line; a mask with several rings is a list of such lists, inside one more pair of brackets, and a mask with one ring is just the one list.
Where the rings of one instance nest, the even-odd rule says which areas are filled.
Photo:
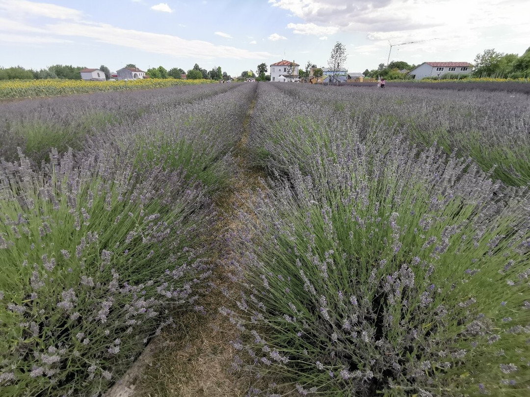
[[0, 395], [102, 395], [190, 310], [234, 325], [249, 396], [530, 393], [526, 93], [242, 83], [0, 116]]

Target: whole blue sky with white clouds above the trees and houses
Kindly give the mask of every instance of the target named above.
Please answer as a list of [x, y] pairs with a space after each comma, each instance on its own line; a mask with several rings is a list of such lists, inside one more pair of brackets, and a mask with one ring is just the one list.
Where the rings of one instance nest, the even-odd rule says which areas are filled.
[[473, 63], [530, 46], [528, 0], [162, 1], [0, 0], [0, 67], [197, 63], [235, 76], [282, 59], [326, 66], [339, 41], [363, 72], [390, 50], [390, 61]]

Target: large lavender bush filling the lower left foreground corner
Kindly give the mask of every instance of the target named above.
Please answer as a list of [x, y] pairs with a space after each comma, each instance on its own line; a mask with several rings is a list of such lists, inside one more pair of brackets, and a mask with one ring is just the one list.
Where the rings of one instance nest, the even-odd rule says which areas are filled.
[[2, 163], [0, 382], [8, 395], [98, 395], [192, 306], [211, 271], [200, 183], [113, 156]]

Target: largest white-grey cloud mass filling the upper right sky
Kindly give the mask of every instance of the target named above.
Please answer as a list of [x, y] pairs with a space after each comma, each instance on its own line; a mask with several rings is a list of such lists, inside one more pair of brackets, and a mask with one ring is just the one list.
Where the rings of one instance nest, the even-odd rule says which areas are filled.
[[319, 29], [370, 33], [373, 40], [407, 42], [438, 37], [442, 40], [435, 46], [444, 51], [477, 45], [496, 27], [502, 31], [496, 40], [518, 42], [530, 36], [527, 13], [513, 12], [528, 10], [528, 0], [269, 0], [269, 4], [302, 19], [304, 23], [288, 25], [300, 34], [311, 34], [309, 28], [302, 27], [313, 24]]

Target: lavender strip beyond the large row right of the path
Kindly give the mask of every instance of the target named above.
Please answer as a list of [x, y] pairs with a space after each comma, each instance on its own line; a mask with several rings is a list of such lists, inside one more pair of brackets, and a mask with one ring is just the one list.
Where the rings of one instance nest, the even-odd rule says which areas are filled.
[[303, 84], [281, 89], [303, 108], [303, 118], [324, 113], [334, 122], [377, 120], [415, 143], [436, 142], [447, 154], [471, 157], [484, 172], [494, 169], [493, 177], [505, 184], [530, 183], [530, 97], [525, 94]]

